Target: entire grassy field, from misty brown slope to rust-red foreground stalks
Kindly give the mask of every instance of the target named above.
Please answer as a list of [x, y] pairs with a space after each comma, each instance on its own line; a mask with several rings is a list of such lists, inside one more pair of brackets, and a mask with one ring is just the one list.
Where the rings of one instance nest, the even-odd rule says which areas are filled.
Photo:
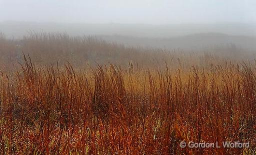
[[0, 54], [2, 154], [256, 154], [255, 61], [59, 33]]

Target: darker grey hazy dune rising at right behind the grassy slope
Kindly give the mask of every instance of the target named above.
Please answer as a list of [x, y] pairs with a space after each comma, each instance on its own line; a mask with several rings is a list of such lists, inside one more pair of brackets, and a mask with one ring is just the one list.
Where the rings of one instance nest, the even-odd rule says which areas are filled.
[[204, 47], [229, 46], [255, 50], [256, 37], [242, 35], [227, 35], [223, 33], [195, 33], [184, 36], [175, 36], [169, 38], [145, 38], [130, 37], [121, 35], [98, 36], [101, 39], [123, 43], [132, 46], [144, 46], [154, 48], [183, 48], [183, 49], [201, 49]]

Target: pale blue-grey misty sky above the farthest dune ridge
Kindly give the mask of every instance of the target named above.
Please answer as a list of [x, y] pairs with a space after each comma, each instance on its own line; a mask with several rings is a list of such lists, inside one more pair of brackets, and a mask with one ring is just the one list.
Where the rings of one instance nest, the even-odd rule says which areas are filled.
[[0, 0], [0, 21], [255, 23], [256, 0]]

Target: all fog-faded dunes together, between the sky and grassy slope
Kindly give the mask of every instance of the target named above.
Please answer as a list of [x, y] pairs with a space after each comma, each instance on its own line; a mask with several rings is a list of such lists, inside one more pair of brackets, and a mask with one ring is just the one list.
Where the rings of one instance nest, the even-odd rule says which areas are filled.
[[256, 49], [256, 24], [85, 24], [0, 22], [0, 31], [9, 38], [21, 38], [29, 31], [66, 32], [69, 35], [93, 35], [98, 38], [156, 48], [201, 49], [226, 46]]

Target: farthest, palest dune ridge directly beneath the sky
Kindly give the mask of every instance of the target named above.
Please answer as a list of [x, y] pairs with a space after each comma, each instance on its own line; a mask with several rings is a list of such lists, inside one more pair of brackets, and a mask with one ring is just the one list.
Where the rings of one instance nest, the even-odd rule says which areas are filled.
[[192, 33], [217, 32], [229, 35], [256, 36], [256, 23], [242, 24], [86, 24], [86, 23], [38, 23], [0, 22], [0, 31], [8, 36], [20, 37], [29, 30], [67, 32], [72, 35], [128, 35], [136, 37], [174, 37]]

